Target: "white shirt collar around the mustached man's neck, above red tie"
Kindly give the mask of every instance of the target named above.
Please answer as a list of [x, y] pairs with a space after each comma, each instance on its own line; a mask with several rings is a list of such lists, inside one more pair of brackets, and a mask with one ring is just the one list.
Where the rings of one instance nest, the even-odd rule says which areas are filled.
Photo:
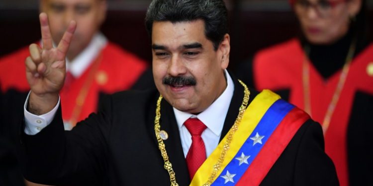
[[206, 110], [198, 115], [182, 112], [174, 108], [176, 122], [178, 123], [179, 130], [187, 119], [198, 118], [203, 124], [207, 126], [215, 135], [220, 136], [223, 129], [225, 117], [228, 113], [228, 106], [230, 105], [233, 97], [234, 84], [227, 70], [224, 70], [225, 77], [227, 78], [227, 87], [224, 92], [216, 99]]

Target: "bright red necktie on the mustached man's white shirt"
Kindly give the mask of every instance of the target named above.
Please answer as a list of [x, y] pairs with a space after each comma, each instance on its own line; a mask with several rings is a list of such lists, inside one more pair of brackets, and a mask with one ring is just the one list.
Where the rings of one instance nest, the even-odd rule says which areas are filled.
[[184, 125], [187, 127], [191, 135], [191, 145], [186, 157], [191, 180], [193, 179], [195, 172], [206, 160], [206, 149], [201, 138], [201, 134], [203, 130], [206, 129], [206, 125], [197, 118], [187, 119]]

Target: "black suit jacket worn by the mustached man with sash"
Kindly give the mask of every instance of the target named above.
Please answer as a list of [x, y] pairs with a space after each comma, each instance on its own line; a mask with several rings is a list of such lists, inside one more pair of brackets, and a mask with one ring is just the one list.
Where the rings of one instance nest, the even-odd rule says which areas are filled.
[[[235, 81], [222, 137], [234, 123], [243, 99]], [[250, 101], [257, 92], [251, 90]], [[51, 185], [169, 186], [154, 131], [157, 90], [120, 92], [98, 114], [64, 131], [61, 111], [34, 136], [23, 133], [18, 154], [26, 179]], [[180, 186], [190, 183], [172, 106], [161, 103], [161, 129], [169, 134], [167, 153]], [[208, 175], [206, 175], [208, 176]], [[334, 165], [324, 153], [321, 126], [311, 120], [296, 132], [261, 186], [334, 186]]]

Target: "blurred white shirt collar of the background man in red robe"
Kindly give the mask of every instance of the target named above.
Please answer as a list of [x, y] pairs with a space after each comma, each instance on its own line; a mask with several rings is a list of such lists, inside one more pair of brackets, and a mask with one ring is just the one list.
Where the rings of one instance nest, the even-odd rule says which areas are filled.
[[73, 61], [66, 59], [66, 71], [70, 71], [76, 78], [80, 77], [106, 44], [107, 39], [103, 34], [95, 34], [90, 44]]

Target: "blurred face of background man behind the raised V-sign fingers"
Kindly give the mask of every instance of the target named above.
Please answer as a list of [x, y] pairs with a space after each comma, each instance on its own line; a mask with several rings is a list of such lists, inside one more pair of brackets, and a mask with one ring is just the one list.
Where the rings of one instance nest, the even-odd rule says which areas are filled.
[[73, 60], [91, 42], [105, 19], [105, 0], [41, 0], [40, 10], [46, 12], [53, 41], [58, 44], [71, 20], [77, 29], [67, 57]]

